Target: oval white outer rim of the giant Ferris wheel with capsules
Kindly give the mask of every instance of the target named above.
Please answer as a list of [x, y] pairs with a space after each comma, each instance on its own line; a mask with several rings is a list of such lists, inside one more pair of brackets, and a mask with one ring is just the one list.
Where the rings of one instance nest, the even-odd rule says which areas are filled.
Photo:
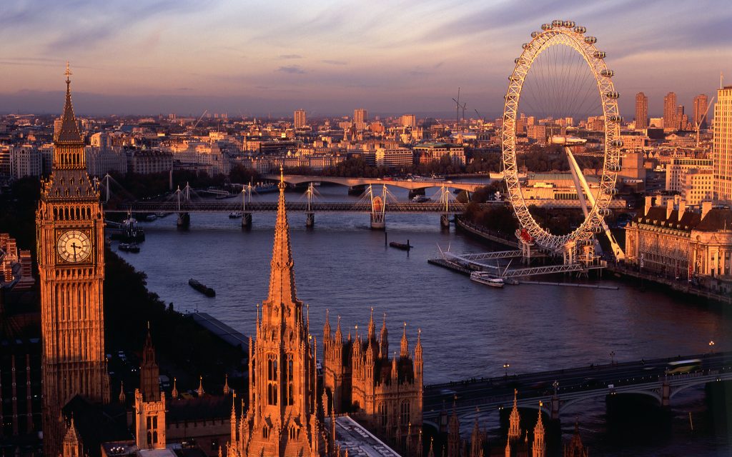
[[[524, 43], [523, 52], [515, 60], [515, 67], [509, 77], [509, 87], [505, 97], [503, 126], [501, 132], [501, 159], [504, 166], [509, 201], [518, 217], [519, 224], [534, 241], [548, 249], [561, 249], [567, 245], [574, 245], [579, 241], [587, 241], [597, 232], [602, 224], [602, 216], [610, 205], [612, 195], [616, 192], [615, 185], [620, 163], [620, 121], [617, 98], [611, 80], [610, 72], [605, 64], [605, 53], [597, 50], [594, 37], [584, 35], [586, 29], [576, 26], [571, 21], [555, 20], [551, 24], [544, 24], [542, 31], [531, 34], [531, 42]], [[600, 186], [595, 196], [595, 203], [589, 210], [582, 224], [566, 235], [554, 235], [536, 222], [529, 213], [529, 207], [523, 198], [518, 181], [518, 167], [516, 163], [516, 116], [520, 102], [523, 82], [531, 69], [531, 64], [544, 51], [554, 45], [566, 45], [580, 53], [589, 66], [597, 83], [597, 90], [602, 103], [602, 116], [605, 120], [604, 160]], [[578, 190], [578, 192], [580, 192]]]

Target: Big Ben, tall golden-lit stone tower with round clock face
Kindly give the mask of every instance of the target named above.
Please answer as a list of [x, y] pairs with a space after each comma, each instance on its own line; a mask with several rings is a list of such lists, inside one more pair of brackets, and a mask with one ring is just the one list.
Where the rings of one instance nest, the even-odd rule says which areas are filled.
[[61, 408], [75, 395], [109, 401], [104, 352], [104, 219], [86, 174], [83, 137], [71, 104], [53, 138], [53, 169], [36, 212], [43, 339], [44, 455], [58, 456]]

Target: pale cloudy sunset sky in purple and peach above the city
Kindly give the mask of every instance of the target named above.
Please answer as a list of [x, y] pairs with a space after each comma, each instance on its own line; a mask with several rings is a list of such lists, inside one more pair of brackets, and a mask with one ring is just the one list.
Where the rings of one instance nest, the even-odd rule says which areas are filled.
[[732, 84], [729, 0], [2, 0], [0, 113], [498, 116], [531, 31], [574, 20], [660, 116]]

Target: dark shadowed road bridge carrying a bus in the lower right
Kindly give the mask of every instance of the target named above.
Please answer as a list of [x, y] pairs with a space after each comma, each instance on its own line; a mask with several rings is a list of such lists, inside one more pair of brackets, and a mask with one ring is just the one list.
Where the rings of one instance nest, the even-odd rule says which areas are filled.
[[[701, 360], [701, 368], [689, 373], [665, 374], [668, 363], [694, 359]], [[453, 402], [461, 422], [476, 414], [498, 412], [512, 407], [514, 389], [518, 390], [518, 407], [538, 409], [541, 401], [542, 410], [554, 419], [559, 418], [561, 409], [572, 404], [627, 393], [650, 396], [661, 406], [670, 407], [673, 396], [681, 390], [729, 380], [732, 380], [732, 352], [467, 379], [425, 386], [423, 416], [425, 423], [437, 428], [441, 415], [452, 411]]]

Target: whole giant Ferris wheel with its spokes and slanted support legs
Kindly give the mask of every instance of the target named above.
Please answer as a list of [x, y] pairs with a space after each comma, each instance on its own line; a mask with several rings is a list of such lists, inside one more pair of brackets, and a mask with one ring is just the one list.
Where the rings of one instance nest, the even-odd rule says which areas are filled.
[[[515, 67], [509, 76], [505, 97], [502, 148], [504, 174], [508, 197], [516, 216], [531, 241], [543, 249], [559, 252], [575, 249], [589, 243], [597, 234], [608, 234], [613, 254], [622, 252], [614, 242], [604, 222], [610, 214], [609, 205], [616, 194], [616, 178], [620, 170], [621, 147], [618, 110], [619, 94], [613, 87], [614, 72], [605, 64], [605, 53], [596, 47], [597, 38], [586, 35], [586, 28], [569, 20], [553, 20], [545, 23], [540, 31], [531, 33], [531, 41], [523, 44], [523, 52], [515, 59]], [[526, 114], [530, 116], [526, 116]], [[520, 117], [519, 117], [520, 116]], [[568, 133], [580, 120], [597, 121], [602, 126], [601, 135], [595, 132], [595, 172], [586, 176], [578, 157], [572, 154], [567, 141]], [[563, 145], [583, 211], [583, 219], [569, 233], [552, 233], [542, 227], [529, 211], [531, 198], [525, 197], [520, 182], [520, 160], [523, 149], [518, 146], [522, 133], [531, 124], [544, 124], [544, 140]], [[534, 125], [532, 128], [536, 129]], [[557, 127], [556, 131], [553, 127]], [[599, 129], [597, 126], [595, 130]], [[549, 135], [546, 132], [561, 133]], [[522, 144], [525, 144], [523, 141]], [[517, 155], [518, 152], [518, 155]], [[592, 154], [589, 154], [592, 155]], [[580, 157], [581, 159], [581, 157]], [[601, 161], [601, 165], [600, 165]]]

